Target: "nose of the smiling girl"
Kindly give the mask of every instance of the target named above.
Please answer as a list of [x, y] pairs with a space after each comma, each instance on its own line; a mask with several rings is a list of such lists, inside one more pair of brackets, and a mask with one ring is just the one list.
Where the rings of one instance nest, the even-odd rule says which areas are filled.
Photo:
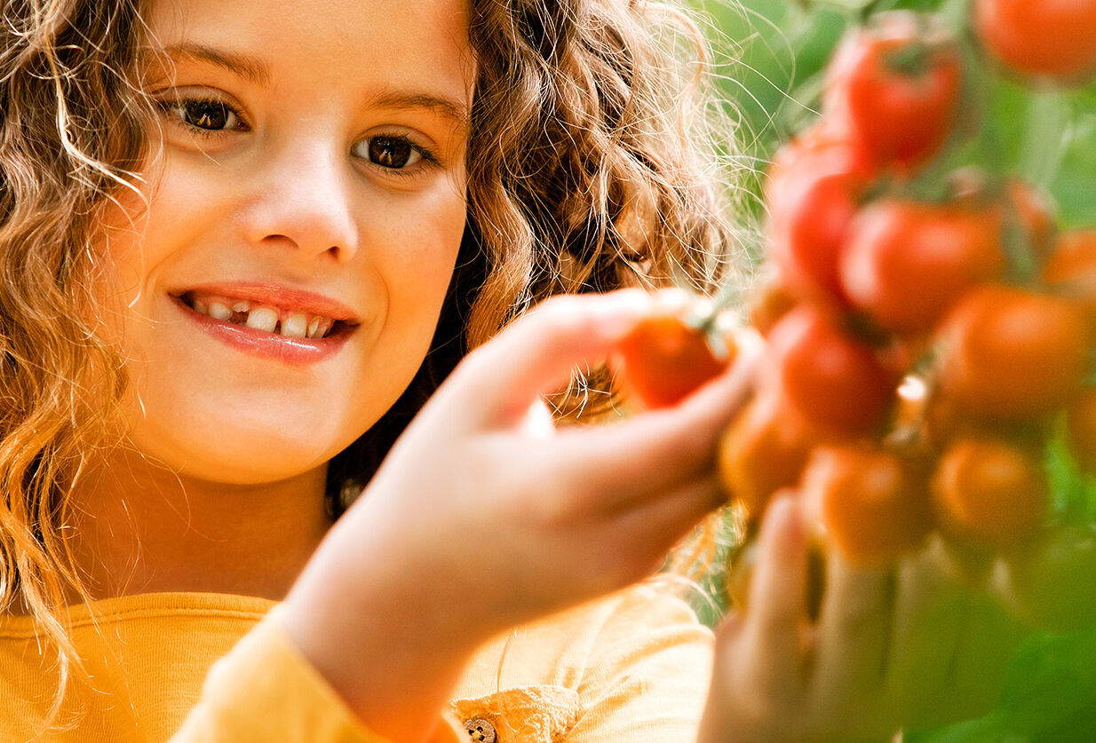
[[357, 253], [354, 183], [346, 158], [322, 142], [289, 146], [263, 163], [243, 212], [246, 238], [346, 263]]

